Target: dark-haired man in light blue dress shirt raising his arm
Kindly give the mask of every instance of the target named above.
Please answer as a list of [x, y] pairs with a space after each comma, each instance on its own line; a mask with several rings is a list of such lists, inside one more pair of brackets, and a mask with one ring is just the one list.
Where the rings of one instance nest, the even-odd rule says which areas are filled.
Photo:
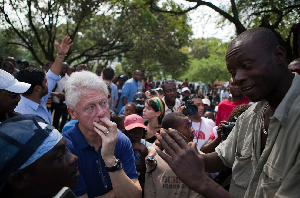
[[44, 70], [38, 68], [26, 68], [18, 73], [17, 79], [21, 82], [30, 83], [31, 87], [21, 95], [21, 100], [15, 109], [16, 112], [38, 115], [52, 124], [51, 112], [47, 109], [46, 102], [56, 82], [61, 79], [59, 74], [62, 62], [72, 44], [70, 37], [65, 37], [60, 45], [55, 43], [58, 54], [46, 74]]

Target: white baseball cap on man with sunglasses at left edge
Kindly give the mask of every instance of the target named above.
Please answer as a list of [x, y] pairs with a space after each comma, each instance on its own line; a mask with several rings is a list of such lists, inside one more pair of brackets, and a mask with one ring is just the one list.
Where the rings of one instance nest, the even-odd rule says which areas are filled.
[[19, 82], [10, 73], [0, 69], [0, 89], [5, 89], [13, 93], [24, 93], [30, 86], [31, 84]]

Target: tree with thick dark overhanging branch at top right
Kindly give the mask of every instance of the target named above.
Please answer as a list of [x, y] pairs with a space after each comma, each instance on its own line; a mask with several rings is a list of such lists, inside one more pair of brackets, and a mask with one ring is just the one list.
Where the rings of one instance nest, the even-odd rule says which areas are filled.
[[[153, 11], [182, 15], [198, 8], [208, 6], [218, 12], [224, 20], [235, 25], [237, 35], [253, 27], [265, 27], [275, 33], [281, 45], [286, 49], [287, 60], [291, 62], [299, 58], [300, 33], [300, 2], [296, 0], [267, 1], [267, 0], [231, 0], [229, 5], [216, 6], [211, 2], [202, 0], [186, 0], [195, 2], [195, 6], [178, 11], [170, 7], [160, 7], [158, 1], [150, 0]], [[292, 41], [291, 41], [292, 39]], [[293, 45], [293, 47], [292, 47]]]

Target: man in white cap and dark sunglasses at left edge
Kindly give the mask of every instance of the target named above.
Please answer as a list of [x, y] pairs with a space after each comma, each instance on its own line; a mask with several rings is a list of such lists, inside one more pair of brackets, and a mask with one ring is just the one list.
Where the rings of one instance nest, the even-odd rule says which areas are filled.
[[26, 92], [31, 84], [19, 82], [10, 73], [0, 70], [0, 123], [8, 118], [20, 115], [15, 112], [20, 94]]

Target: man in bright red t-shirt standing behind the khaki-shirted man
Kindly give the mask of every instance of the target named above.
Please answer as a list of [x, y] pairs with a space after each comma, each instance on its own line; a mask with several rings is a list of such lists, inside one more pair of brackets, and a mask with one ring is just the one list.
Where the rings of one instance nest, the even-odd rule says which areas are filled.
[[232, 78], [229, 80], [229, 91], [232, 94], [232, 98], [220, 102], [216, 116], [216, 126], [219, 126], [222, 120], [227, 120], [236, 106], [250, 103], [250, 100], [244, 96], [244, 93], [233, 82]]

